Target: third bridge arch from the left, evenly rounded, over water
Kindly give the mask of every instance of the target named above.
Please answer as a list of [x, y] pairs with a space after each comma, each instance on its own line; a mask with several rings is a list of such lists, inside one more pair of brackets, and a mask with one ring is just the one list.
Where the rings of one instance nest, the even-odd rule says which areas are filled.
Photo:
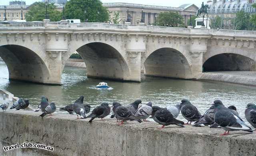
[[156, 49], [145, 57], [144, 74], [170, 78], [191, 78], [188, 59], [177, 49], [164, 47]]

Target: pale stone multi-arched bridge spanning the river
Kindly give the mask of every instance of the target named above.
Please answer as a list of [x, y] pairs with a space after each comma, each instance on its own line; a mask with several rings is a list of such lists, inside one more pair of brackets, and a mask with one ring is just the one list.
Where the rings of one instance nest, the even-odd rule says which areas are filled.
[[256, 31], [107, 23], [0, 23], [0, 57], [11, 80], [61, 84], [78, 52], [87, 76], [140, 82], [148, 76], [197, 79], [204, 71], [256, 71]]

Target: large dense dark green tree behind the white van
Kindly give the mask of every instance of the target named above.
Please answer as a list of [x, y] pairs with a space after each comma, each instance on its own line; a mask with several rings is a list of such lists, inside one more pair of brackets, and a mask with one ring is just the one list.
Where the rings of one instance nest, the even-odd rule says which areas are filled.
[[108, 10], [100, 0], [70, 0], [65, 6], [67, 19], [80, 19], [88, 22], [106, 22], [109, 19]]

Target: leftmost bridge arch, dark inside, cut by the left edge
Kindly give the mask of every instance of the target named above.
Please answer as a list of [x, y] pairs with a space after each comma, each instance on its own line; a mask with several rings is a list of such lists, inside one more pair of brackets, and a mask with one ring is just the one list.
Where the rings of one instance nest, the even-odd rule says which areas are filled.
[[40, 54], [43, 52], [39, 49], [30, 49], [22, 45], [0, 45], [0, 57], [6, 63], [10, 80], [47, 84], [50, 73]]

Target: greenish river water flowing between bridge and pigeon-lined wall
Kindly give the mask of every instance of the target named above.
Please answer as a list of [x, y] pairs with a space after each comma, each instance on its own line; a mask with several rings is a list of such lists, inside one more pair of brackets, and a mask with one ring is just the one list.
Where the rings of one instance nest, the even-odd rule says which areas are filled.
[[[30, 99], [30, 103], [37, 107], [42, 95], [55, 101], [57, 108], [76, 101], [83, 95], [84, 101], [92, 107], [102, 101], [111, 103], [119, 101], [126, 105], [136, 99], [142, 99], [142, 103], [151, 101], [153, 105], [166, 107], [168, 104], [177, 104], [183, 98], [187, 98], [203, 114], [215, 99], [221, 99], [224, 105], [235, 105], [242, 119], [247, 103], [255, 103], [256, 88], [227, 84], [220, 82], [200, 82], [193, 80], [178, 80], [166, 78], [146, 78], [141, 83], [115, 82], [104, 80], [110, 90], [98, 90], [96, 85], [103, 80], [87, 78], [83, 68], [65, 67], [62, 73], [62, 86], [47, 86], [26, 82], [8, 80], [8, 69], [4, 62], [0, 61], [0, 88], [4, 88], [17, 97]], [[57, 111], [57, 113], [64, 113]], [[74, 116], [76, 117], [76, 115]], [[179, 115], [178, 119], [183, 119]]]

